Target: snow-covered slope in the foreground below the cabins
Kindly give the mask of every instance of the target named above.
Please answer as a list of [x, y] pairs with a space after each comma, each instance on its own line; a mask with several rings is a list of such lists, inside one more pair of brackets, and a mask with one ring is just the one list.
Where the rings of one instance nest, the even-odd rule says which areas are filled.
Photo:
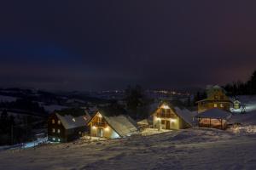
[[0, 152], [1, 169], [256, 169], [256, 136], [192, 128]]

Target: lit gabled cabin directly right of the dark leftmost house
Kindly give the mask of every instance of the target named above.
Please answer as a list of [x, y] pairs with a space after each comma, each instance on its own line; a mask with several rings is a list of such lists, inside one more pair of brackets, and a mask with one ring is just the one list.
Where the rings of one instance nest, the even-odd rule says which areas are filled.
[[90, 127], [90, 136], [105, 139], [116, 139], [131, 136], [137, 133], [136, 123], [129, 116], [108, 116], [106, 110], [96, 111], [88, 123]]

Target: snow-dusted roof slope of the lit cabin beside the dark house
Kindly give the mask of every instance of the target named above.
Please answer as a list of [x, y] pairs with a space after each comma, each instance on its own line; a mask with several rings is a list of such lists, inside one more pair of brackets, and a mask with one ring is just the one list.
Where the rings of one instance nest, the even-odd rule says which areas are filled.
[[103, 116], [108, 125], [119, 134], [119, 136], [129, 136], [137, 132], [137, 127], [131, 122], [131, 118], [127, 116]]

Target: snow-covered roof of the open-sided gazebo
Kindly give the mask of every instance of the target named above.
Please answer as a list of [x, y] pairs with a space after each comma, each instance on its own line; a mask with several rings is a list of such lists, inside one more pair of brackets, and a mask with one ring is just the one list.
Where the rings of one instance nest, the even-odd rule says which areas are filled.
[[212, 119], [230, 119], [231, 116], [232, 116], [231, 113], [228, 111], [223, 111], [218, 108], [213, 108], [211, 110], [204, 111], [195, 117], [212, 118]]

